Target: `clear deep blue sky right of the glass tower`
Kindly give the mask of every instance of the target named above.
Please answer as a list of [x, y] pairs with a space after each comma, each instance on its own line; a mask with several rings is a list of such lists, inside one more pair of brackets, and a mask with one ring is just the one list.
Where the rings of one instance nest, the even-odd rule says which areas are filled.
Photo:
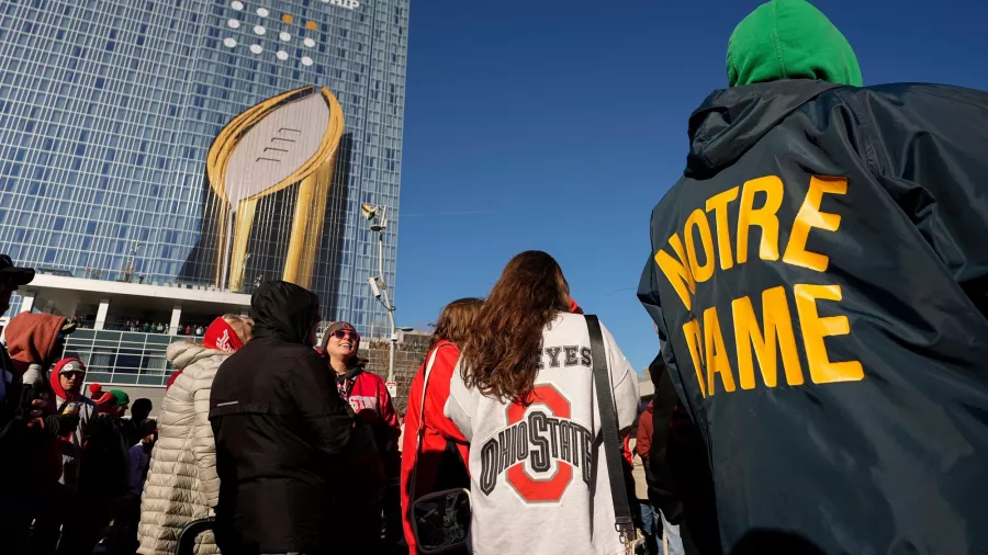
[[[396, 317], [483, 296], [514, 254], [559, 260], [639, 371], [658, 351], [635, 296], [649, 214], [678, 179], [686, 120], [725, 86], [760, 2], [413, 0]], [[988, 2], [817, 1], [866, 84], [988, 90]]]

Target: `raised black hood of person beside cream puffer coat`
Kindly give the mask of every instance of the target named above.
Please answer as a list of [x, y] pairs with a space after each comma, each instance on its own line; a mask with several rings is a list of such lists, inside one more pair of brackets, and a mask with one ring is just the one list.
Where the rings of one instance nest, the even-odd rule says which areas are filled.
[[255, 337], [305, 343], [319, 318], [319, 297], [294, 283], [271, 281], [250, 297]]

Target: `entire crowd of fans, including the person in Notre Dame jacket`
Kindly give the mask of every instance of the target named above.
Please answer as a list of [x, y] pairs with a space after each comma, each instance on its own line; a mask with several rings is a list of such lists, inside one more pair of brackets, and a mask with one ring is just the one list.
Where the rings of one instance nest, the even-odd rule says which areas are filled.
[[[317, 344], [318, 297], [291, 283], [168, 348], [156, 422], [82, 394], [74, 324], [21, 314], [4, 553], [171, 554], [202, 519], [200, 554], [980, 552], [988, 94], [863, 87], [802, 0], [738, 25], [728, 79], [653, 213], [644, 410], [541, 251], [442, 309], [404, 418], [358, 330]], [[32, 279], [0, 256], [0, 309]]]

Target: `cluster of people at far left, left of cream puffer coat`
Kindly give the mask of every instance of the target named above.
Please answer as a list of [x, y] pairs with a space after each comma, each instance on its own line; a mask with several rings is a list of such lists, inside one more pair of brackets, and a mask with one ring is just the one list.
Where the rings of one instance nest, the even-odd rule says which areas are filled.
[[[2, 256], [0, 273], [5, 310], [33, 271]], [[155, 422], [147, 418], [153, 407], [148, 399], [132, 407], [126, 393], [99, 384], [90, 384], [87, 396], [86, 364], [61, 358], [75, 329], [60, 316], [21, 313], [4, 330], [0, 537], [10, 553], [90, 555], [101, 541], [126, 544], [128, 526], [137, 522], [147, 467], [138, 454], [155, 442]]]

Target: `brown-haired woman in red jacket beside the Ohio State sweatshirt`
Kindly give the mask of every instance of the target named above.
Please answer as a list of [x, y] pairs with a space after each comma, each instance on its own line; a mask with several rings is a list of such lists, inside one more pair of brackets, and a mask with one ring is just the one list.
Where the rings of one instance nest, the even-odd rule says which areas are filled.
[[[482, 305], [482, 299], [473, 297], [460, 298], [446, 305], [433, 331], [429, 353], [412, 380], [402, 445], [402, 523], [409, 553], [417, 553], [408, 514], [411, 502], [434, 491], [470, 487], [470, 477], [467, 474], [469, 456], [467, 440], [446, 418], [442, 410], [446, 399], [449, 398], [449, 382], [460, 359], [458, 346], [467, 340], [470, 325]], [[426, 365], [434, 355], [433, 369], [426, 384]], [[426, 398], [424, 410], [423, 389]], [[423, 428], [419, 448], [418, 434]], [[416, 473], [415, 491], [411, 490], [409, 478], [413, 471]]]

